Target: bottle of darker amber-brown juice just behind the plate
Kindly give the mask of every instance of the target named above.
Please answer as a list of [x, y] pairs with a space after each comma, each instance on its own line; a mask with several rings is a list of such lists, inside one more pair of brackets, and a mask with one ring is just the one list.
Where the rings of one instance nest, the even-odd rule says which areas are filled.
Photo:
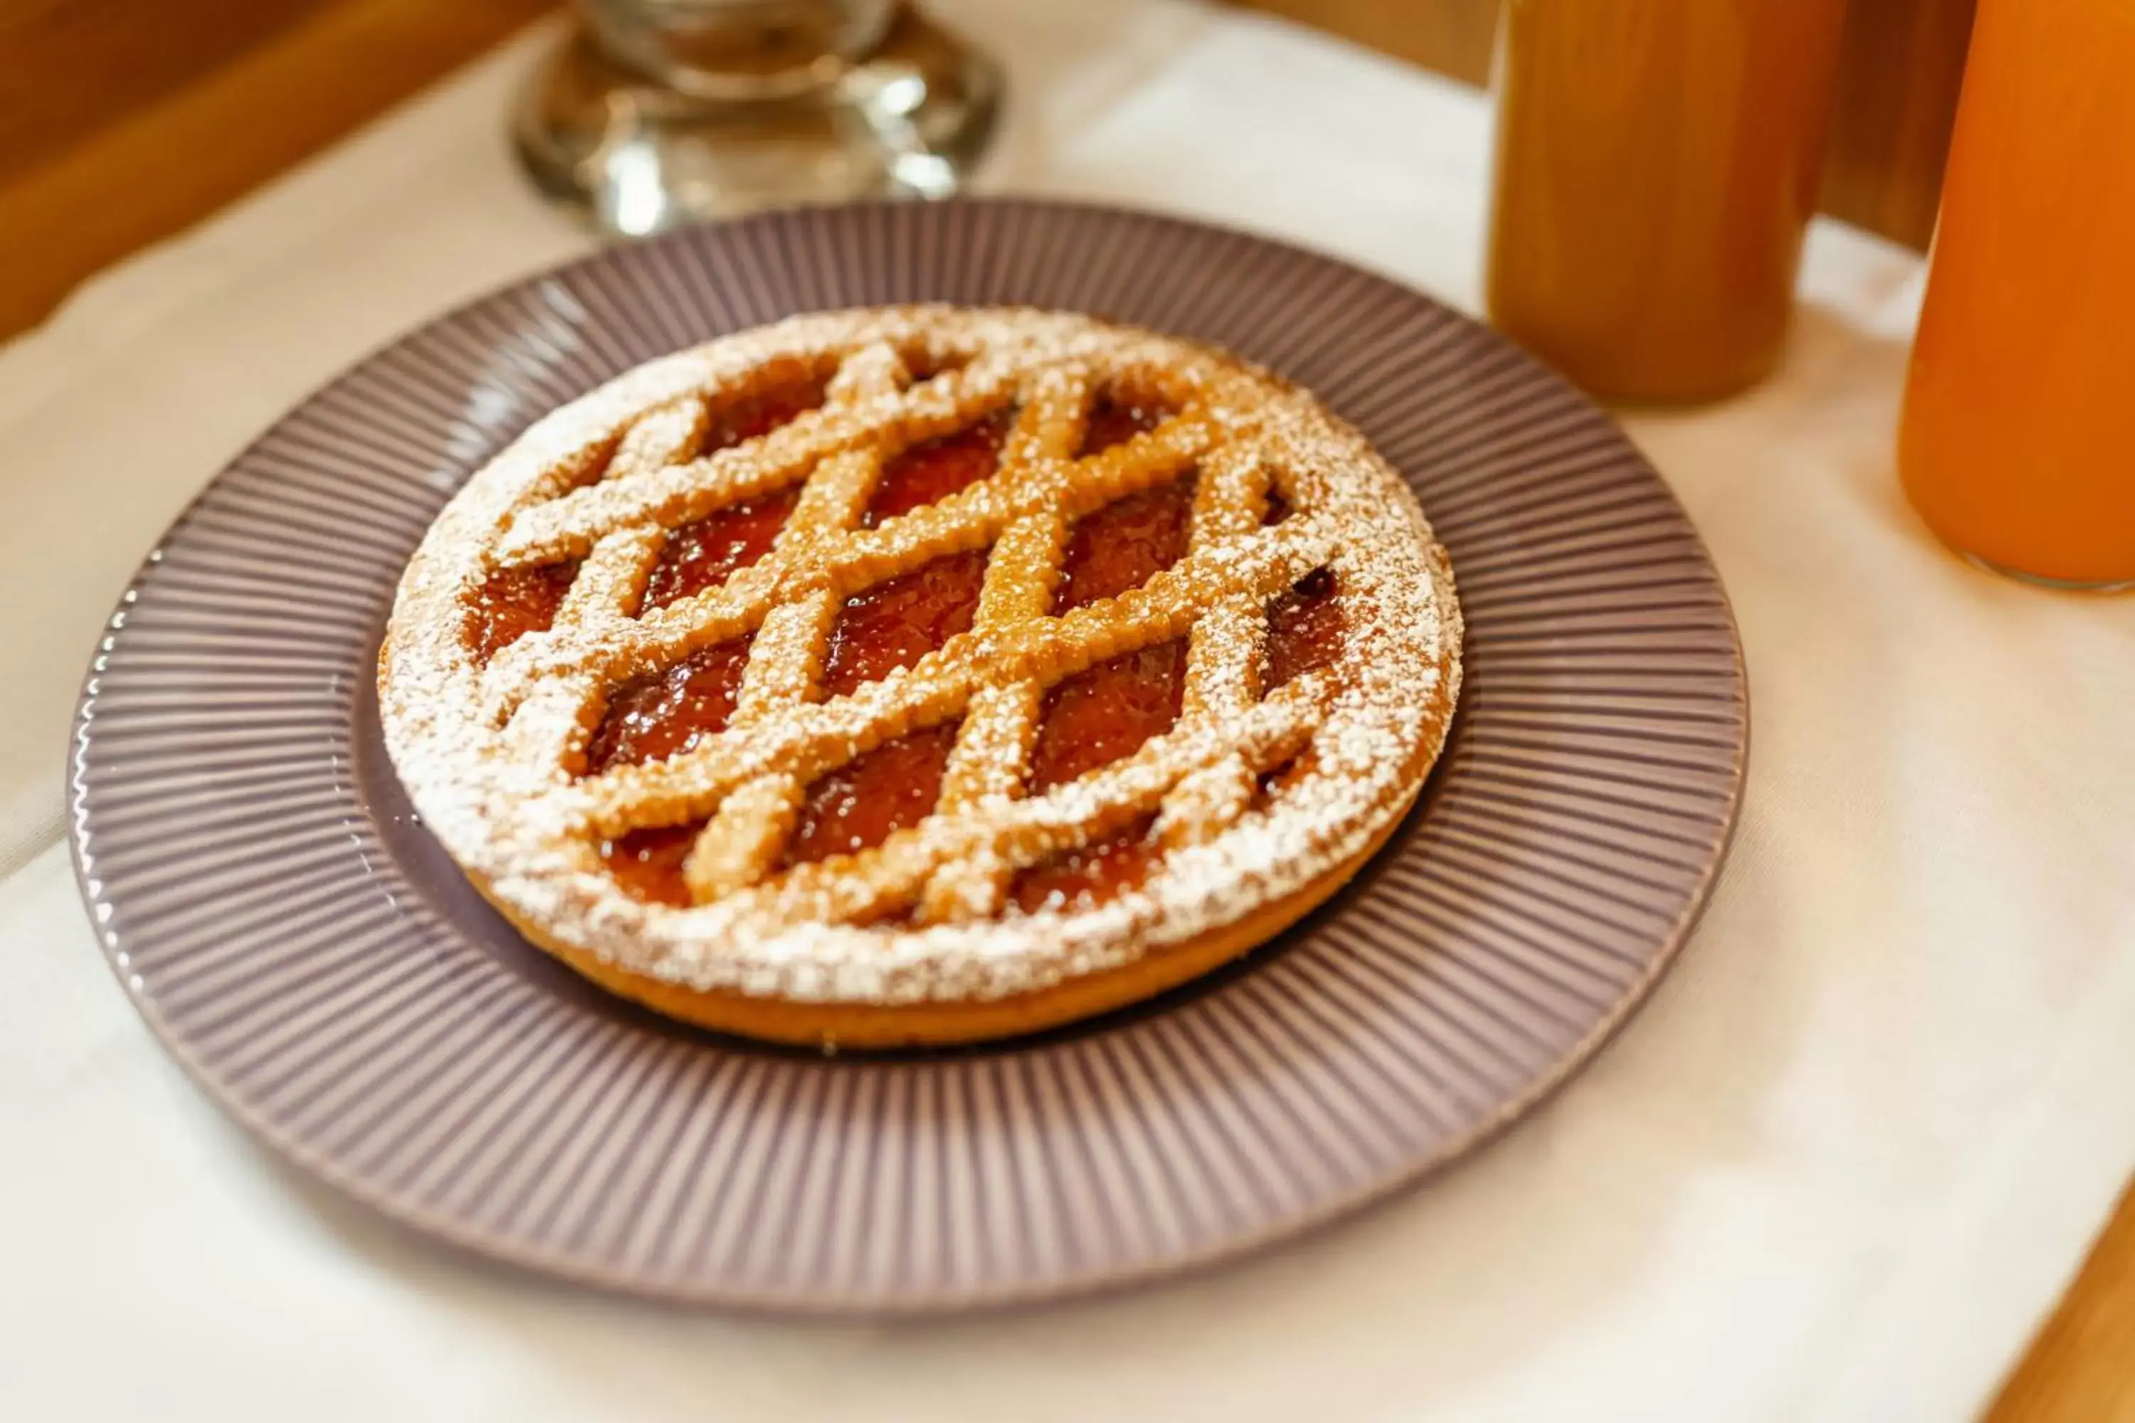
[[1845, 0], [1507, 0], [1490, 318], [1603, 399], [1778, 358]]

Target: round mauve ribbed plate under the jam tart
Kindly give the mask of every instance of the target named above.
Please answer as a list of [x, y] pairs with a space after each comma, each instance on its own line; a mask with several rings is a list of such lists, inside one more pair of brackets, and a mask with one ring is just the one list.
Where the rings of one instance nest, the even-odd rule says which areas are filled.
[[[423, 529], [536, 416], [666, 350], [897, 301], [1095, 311], [1317, 390], [1454, 555], [1467, 691], [1388, 849], [1215, 981], [1006, 1048], [826, 1060], [668, 1026], [521, 943], [412, 819], [371, 668]], [[1746, 732], [1682, 510], [1488, 331], [1146, 213], [841, 207], [602, 252], [290, 412], [113, 614], [73, 830], [149, 1026], [357, 1199], [647, 1295], [918, 1312], [1232, 1257], [1533, 1107], [1689, 934]]]

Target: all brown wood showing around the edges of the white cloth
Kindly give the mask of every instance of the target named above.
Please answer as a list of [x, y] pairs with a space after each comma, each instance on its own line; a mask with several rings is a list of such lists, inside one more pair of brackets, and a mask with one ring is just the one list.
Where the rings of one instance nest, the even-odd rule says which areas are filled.
[[[1253, 2], [1465, 79], [1488, 68], [1497, 0]], [[1825, 192], [1843, 215], [1915, 245], [1932, 228], [1971, 6], [1855, 0]], [[0, 0], [0, 337], [547, 9]], [[1988, 1421], [2135, 1423], [2135, 1197]]]

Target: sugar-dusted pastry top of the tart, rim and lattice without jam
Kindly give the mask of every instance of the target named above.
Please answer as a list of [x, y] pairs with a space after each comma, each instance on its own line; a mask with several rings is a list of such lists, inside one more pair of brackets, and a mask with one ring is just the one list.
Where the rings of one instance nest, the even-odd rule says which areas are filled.
[[[822, 410], [690, 457], [707, 401], [794, 369], [828, 380]], [[1149, 390], [1179, 414], [1074, 461], [1100, 386]], [[882, 459], [1003, 403], [1021, 416], [999, 474], [877, 529], [854, 527]], [[611, 457], [606, 478], [579, 484]], [[1202, 480], [1187, 557], [1142, 589], [1046, 617], [1035, 591], [1050, 589], [1068, 521], [1189, 467]], [[850, 486], [820, 516], [796, 516], [760, 563], [638, 614], [660, 529], [801, 480], [809, 508], [833, 469]], [[1292, 512], [1262, 527], [1270, 480]], [[668, 762], [574, 777], [617, 683], [752, 634], [784, 608], [835, 606], [980, 546], [995, 546], [995, 563], [978, 623], [916, 666], [848, 698], [773, 700]], [[497, 567], [555, 557], [587, 559], [555, 627], [478, 668], [468, 599]], [[1262, 698], [1262, 608], [1315, 567], [1337, 574], [1341, 655]], [[1042, 689], [1179, 636], [1191, 638], [1179, 723], [1123, 762], [1021, 796]], [[777, 657], [811, 646], [773, 642], [803, 649]], [[1452, 570], [1413, 495], [1309, 395], [1219, 352], [1080, 316], [899, 307], [726, 337], [538, 422], [468, 482], [410, 561], [380, 687], [386, 745], [425, 821], [547, 934], [694, 988], [899, 1005], [997, 998], [1112, 969], [1354, 860], [1407, 809], [1443, 745], [1458, 646]], [[766, 687], [805, 695], [807, 676], [775, 672], [784, 681]], [[956, 719], [937, 813], [873, 851], [777, 873], [758, 847], [745, 883], [690, 909], [626, 896], [600, 862], [602, 836], [715, 817], [711, 836], [719, 806], [747, 785], [805, 785]], [[1304, 749], [1309, 770], [1255, 804], [1253, 777]], [[1151, 813], [1170, 849], [1140, 888], [1095, 907], [1001, 913], [999, 888], [1016, 868]], [[702, 853], [715, 849], [700, 841]], [[927, 926], [856, 924], [914, 907]]]

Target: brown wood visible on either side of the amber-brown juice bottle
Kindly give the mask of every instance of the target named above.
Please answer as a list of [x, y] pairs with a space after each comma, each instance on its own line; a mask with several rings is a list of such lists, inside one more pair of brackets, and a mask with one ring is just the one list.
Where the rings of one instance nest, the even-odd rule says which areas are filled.
[[[1471, 83], [1490, 70], [1499, 0], [1240, 0]], [[1712, 0], [1695, 0], [1708, 4]], [[1928, 245], [1975, 0], [1853, 0], [1823, 205]]]

